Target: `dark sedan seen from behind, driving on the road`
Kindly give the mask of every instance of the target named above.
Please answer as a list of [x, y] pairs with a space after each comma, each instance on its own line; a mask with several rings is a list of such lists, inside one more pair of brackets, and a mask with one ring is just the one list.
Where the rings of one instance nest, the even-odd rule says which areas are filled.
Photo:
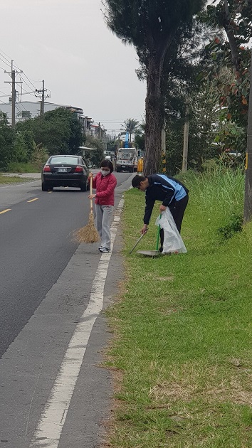
[[49, 157], [41, 173], [42, 191], [53, 190], [54, 187], [69, 186], [89, 189], [89, 167], [81, 156], [58, 155]]

